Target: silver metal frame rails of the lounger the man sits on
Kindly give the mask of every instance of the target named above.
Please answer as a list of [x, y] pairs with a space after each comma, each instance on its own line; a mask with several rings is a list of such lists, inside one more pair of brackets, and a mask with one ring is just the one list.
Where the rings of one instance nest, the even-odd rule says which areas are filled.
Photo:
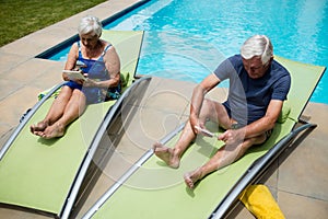
[[[282, 59], [284, 60], [284, 59]], [[320, 80], [325, 72], [326, 68], [321, 70], [320, 77], [317, 79], [316, 83]], [[316, 84], [315, 84], [316, 85]], [[314, 87], [315, 88], [315, 87]], [[314, 91], [314, 90], [313, 90]], [[313, 93], [311, 92], [308, 100]], [[220, 200], [216, 207], [213, 208], [212, 212], [208, 216], [208, 218], [226, 218], [229, 214], [234, 209], [236, 201], [238, 200], [239, 195], [244, 189], [247, 188], [247, 186], [257, 183], [263, 173], [268, 170], [268, 168], [272, 164], [272, 162], [284, 151], [286, 150], [291, 145], [295, 143], [295, 139], [300, 134], [303, 135], [305, 132], [312, 131], [314, 128], [317, 127], [316, 124], [308, 123], [301, 118], [302, 113], [304, 112], [308, 100], [304, 104], [303, 108], [301, 110], [297, 118], [288, 118], [291, 119], [294, 124], [291, 126], [291, 132], [286, 134], [284, 137], [282, 137], [272, 148], [270, 148], [265, 154], [253, 161], [253, 163], [249, 165], [249, 168], [244, 172], [243, 175], [238, 177], [236, 183], [232, 185], [231, 189], [227, 192], [227, 194], [224, 196], [223, 199]], [[302, 124], [301, 126], [296, 126], [298, 124]], [[179, 131], [183, 129], [185, 124], [181, 124], [177, 129], [168, 134], [164, 139], [162, 139], [160, 142], [165, 145], [167, 141], [169, 141], [173, 137], [179, 134]], [[303, 138], [297, 138], [302, 140]], [[83, 219], [93, 218], [93, 216], [96, 214], [96, 211], [102, 208], [102, 206], [108, 200], [114, 193], [124, 185], [125, 182], [128, 181], [128, 178], [138, 171], [138, 169], [143, 165], [153, 155], [153, 150], [150, 149], [147, 151], [141, 159], [136, 162], [134, 165], [132, 165], [125, 175], [122, 175], [95, 204], [94, 206], [83, 216]]]

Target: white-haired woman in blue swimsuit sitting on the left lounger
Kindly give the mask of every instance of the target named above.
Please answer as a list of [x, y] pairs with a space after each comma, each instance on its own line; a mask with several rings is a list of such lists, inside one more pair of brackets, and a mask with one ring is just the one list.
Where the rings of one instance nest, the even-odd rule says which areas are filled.
[[83, 114], [87, 104], [117, 99], [120, 94], [120, 61], [108, 42], [101, 39], [102, 23], [84, 16], [78, 27], [80, 41], [69, 51], [65, 70], [82, 70], [87, 80], [69, 80], [54, 101], [46, 117], [31, 126], [31, 131], [50, 139], [65, 135], [66, 127]]

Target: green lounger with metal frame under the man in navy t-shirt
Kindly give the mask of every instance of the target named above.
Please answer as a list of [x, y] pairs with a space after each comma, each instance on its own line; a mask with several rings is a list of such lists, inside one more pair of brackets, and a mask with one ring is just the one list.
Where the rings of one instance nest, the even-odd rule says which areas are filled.
[[[150, 149], [84, 215], [86, 218], [222, 218], [239, 194], [301, 131], [314, 128], [295, 125], [325, 68], [277, 57], [292, 74], [292, 88], [282, 118], [270, 139], [251, 148], [242, 159], [204, 177], [195, 189], [186, 187], [183, 174], [201, 165], [222, 146], [214, 138], [201, 137], [183, 157], [178, 170], [167, 168]], [[174, 146], [183, 125], [161, 142]], [[210, 130], [214, 130], [209, 124]]]

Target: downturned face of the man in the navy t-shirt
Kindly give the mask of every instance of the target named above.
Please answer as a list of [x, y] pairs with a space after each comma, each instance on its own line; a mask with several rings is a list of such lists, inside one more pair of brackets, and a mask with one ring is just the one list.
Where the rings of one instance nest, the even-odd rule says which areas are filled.
[[270, 66], [270, 62], [271, 61], [269, 60], [267, 64], [263, 65], [261, 61], [261, 57], [259, 56], [255, 56], [250, 59], [243, 58], [244, 68], [246, 69], [249, 78], [251, 79], [258, 79], [263, 77]]

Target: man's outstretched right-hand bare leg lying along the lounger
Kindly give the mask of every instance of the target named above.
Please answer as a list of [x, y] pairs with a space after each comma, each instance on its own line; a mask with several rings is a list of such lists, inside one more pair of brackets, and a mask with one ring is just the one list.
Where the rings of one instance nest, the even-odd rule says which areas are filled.
[[253, 145], [262, 143], [266, 141], [266, 135], [262, 134], [254, 138], [245, 139], [243, 142], [236, 146], [223, 146], [206, 164], [184, 175], [186, 185], [190, 188], [194, 188], [196, 182], [200, 181], [209, 173], [212, 173], [238, 160], [245, 154], [248, 148], [250, 148]]

